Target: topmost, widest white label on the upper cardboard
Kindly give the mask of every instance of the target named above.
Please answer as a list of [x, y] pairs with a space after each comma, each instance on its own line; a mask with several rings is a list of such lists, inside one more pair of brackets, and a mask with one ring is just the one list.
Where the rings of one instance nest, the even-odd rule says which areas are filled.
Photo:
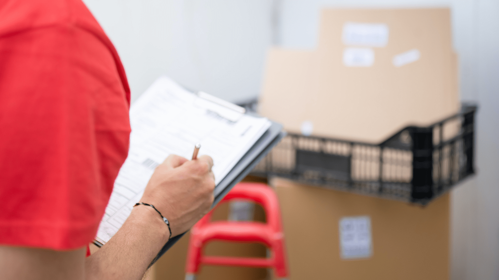
[[388, 44], [388, 25], [384, 23], [346, 22], [342, 40], [345, 45], [384, 47]]

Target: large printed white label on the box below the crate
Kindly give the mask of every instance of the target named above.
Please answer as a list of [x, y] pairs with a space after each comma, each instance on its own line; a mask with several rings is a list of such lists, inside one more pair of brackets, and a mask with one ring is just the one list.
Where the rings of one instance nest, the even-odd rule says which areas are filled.
[[342, 259], [371, 257], [371, 218], [369, 216], [342, 218], [339, 222], [339, 233]]

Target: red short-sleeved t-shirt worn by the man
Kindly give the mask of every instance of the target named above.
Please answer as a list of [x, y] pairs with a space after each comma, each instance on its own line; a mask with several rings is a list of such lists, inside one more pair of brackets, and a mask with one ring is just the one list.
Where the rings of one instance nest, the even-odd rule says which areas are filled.
[[129, 105], [118, 54], [81, 0], [0, 1], [0, 245], [95, 237]]

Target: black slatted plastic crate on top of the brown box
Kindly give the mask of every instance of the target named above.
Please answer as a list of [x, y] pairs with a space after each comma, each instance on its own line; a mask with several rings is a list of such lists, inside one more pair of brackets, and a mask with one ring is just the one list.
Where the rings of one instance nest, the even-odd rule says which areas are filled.
[[252, 171], [425, 205], [475, 173], [475, 105], [380, 144], [288, 134]]

